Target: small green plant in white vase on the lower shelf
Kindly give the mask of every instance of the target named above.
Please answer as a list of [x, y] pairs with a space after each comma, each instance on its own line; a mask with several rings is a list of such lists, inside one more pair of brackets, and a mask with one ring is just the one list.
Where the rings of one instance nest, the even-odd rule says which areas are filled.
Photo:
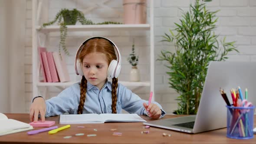
[[133, 40], [132, 48], [131, 48], [131, 54], [128, 56], [127, 60], [131, 64], [131, 72], [130, 72], [130, 81], [132, 82], [138, 82], [140, 81], [140, 73], [137, 68], [137, 64], [139, 61], [139, 56], [135, 54], [135, 44]]

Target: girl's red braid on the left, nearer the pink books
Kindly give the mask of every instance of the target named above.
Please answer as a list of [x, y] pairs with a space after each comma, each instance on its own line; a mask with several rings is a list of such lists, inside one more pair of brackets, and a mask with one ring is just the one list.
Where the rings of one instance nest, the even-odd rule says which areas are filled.
[[85, 79], [85, 76], [82, 76], [81, 84], [80, 84], [80, 103], [78, 105], [77, 114], [83, 113], [83, 108], [85, 105], [85, 96], [87, 91], [87, 80]]

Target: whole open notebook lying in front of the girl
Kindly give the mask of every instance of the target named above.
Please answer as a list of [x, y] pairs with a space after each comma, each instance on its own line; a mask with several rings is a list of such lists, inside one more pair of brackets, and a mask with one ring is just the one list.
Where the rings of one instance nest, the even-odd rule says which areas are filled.
[[137, 114], [60, 115], [59, 124], [94, 124], [104, 122], [146, 122]]

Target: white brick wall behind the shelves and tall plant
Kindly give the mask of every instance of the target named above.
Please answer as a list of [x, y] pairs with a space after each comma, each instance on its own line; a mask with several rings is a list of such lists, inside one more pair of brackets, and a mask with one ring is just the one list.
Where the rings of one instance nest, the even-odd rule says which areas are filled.
[[[93, 6], [92, 0], [49, 0], [49, 20], [53, 20], [56, 13], [61, 8], [78, 8], [83, 12], [88, 7]], [[98, 2], [98, 1], [97, 1]], [[162, 49], [174, 51], [174, 46], [168, 43], [160, 42], [161, 36], [168, 33], [168, 30], [174, 28], [174, 22], [179, 22], [181, 18], [181, 11], [188, 10], [189, 4], [194, 3], [194, 0], [154, 0], [154, 31], [155, 31], [155, 59], [158, 58]], [[121, 0], [111, 0], [106, 3], [114, 10], [106, 8], [97, 8], [91, 13], [85, 14], [87, 18], [97, 22], [119, 21], [122, 22], [123, 10]], [[236, 46], [240, 50], [239, 54], [235, 52], [230, 53], [228, 61], [256, 61], [256, 0], [213, 0], [207, 4], [210, 10], [220, 10], [217, 13], [219, 16], [218, 27], [216, 33], [220, 38], [226, 36], [227, 41], [237, 41]], [[32, 17], [32, 3], [27, 0], [26, 4], [26, 48], [25, 48], [25, 75], [26, 75], [26, 111], [29, 111], [32, 95], [32, 39], [31, 39], [31, 17]], [[148, 10], [149, 12], [149, 10]], [[148, 13], [149, 16], [149, 13]], [[74, 54], [77, 46], [83, 42], [84, 39], [93, 35], [108, 36], [119, 47], [122, 53], [122, 72], [119, 79], [128, 80], [128, 74], [131, 66], [126, 62], [128, 53], [131, 52], [132, 38], [135, 38], [135, 49], [139, 53], [138, 68], [141, 72], [141, 80], [147, 80], [149, 77], [149, 32], [77, 32], [68, 33], [66, 39], [66, 46], [71, 53], [71, 56], [66, 56], [70, 76], [73, 80], [80, 78], [74, 75], [73, 62]], [[56, 50], [59, 45], [59, 33], [50, 33], [48, 50]], [[177, 108], [177, 101], [174, 99], [178, 94], [174, 89], [169, 88], [168, 78], [166, 74], [167, 68], [164, 62], [155, 62], [155, 100], [158, 101], [167, 113], [171, 114]], [[50, 98], [59, 93], [57, 88], [49, 88], [50, 93], [46, 98]], [[134, 89], [136, 94], [143, 99], [148, 99], [149, 88]]]

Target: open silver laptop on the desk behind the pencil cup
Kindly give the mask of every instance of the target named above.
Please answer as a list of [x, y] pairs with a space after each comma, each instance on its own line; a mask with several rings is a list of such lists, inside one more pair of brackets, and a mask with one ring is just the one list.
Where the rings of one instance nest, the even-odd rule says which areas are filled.
[[231, 88], [240, 86], [243, 96], [248, 88], [248, 100], [256, 104], [256, 62], [211, 62], [203, 86], [197, 115], [144, 122], [158, 128], [187, 133], [199, 133], [226, 127], [226, 103], [220, 95], [224, 89], [230, 104]]

